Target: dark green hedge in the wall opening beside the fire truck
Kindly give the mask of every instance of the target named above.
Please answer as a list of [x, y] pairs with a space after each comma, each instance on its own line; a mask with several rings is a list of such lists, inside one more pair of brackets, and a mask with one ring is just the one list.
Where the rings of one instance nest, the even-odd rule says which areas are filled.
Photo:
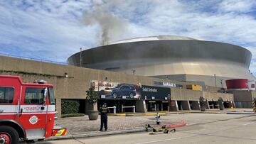
[[77, 100], [61, 100], [61, 114], [78, 113], [79, 105]]

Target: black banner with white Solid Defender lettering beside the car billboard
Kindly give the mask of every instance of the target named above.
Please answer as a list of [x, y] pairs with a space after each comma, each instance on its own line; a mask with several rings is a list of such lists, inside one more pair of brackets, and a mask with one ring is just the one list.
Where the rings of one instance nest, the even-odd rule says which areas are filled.
[[142, 85], [142, 99], [166, 100], [171, 99], [171, 89]]

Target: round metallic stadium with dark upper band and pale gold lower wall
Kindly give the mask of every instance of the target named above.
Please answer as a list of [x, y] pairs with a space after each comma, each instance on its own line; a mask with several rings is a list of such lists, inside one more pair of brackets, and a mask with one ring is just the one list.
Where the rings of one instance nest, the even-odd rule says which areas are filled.
[[[69, 65], [214, 86], [220, 79], [250, 79], [252, 54], [238, 45], [159, 35], [83, 50]], [[215, 81], [213, 80], [215, 79]], [[219, 84], [219, 82], [217, 82]], [[223, 84], [225, 87], [225, 84]]]

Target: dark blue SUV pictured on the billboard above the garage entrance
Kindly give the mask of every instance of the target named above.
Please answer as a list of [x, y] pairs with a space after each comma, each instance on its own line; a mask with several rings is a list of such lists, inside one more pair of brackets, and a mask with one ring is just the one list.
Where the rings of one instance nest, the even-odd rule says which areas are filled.
[[136, 95], [136, 89], [131, 84], [122, 84], [120, 87], [113, 89], [111, 95], [114, 99], [122, 98], [122, 96], [128, 96], [133, 99]]

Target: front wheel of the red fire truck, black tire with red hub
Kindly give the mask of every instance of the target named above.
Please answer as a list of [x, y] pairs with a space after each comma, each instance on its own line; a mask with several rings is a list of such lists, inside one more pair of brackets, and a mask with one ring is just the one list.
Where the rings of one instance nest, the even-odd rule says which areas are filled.
[[0, 140], [6, 144], [16, 144], [18, 132], [11, 126], [0, 126]]

